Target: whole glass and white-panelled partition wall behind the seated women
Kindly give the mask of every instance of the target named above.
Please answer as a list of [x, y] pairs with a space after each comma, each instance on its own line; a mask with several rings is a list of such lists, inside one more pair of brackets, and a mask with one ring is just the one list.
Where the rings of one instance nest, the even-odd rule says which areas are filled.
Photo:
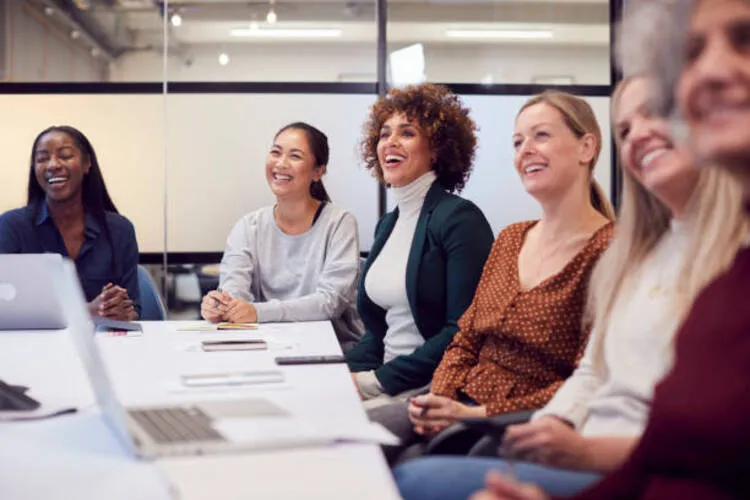
[[[0, 211], [25, 203], [35, 135], [52, 124], [80, 128], [116, 205], [136, 227], [141, 262], [165, 278], [172, 317], [197, 318], [202, 294], [216, 286], [232, 225], [273, 202], [263, 167], [275, 132], [306, 121], [328, 135], [324, 182], [334, 202], [356, 215], [367, 252], [380, 216], [378, 187], [357, 145], [377, 94], [376, 6], [0, 0], [0, 81], [12, 88], [0, 93], [0, 128], [13, 165], [0, 186]], [[606, 134], [608, 2], [388, 0], [386, 7], [382, 42], [391, 85], [485, 84], [456, 87], [481, 127], [463, 195], [496, 231], [536, 216], [508, 177], [508, 127], [527, 93], [550, 84], [599, 85], [586, 97]], [[507, 88], [488, 91], [487, 84], [536, 86], [513, 91], [524, 95], [493, 95]], [[605, 188], [607, 146], [597, 168]]]

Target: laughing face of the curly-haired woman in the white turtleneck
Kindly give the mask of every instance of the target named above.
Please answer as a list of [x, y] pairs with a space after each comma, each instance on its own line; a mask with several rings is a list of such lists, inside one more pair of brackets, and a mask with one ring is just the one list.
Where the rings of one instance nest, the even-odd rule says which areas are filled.
[[393, 187], [406, 186], [432, 169], [429, 138], [403, 113], [385, 121], [377, 151], [383, 180]]

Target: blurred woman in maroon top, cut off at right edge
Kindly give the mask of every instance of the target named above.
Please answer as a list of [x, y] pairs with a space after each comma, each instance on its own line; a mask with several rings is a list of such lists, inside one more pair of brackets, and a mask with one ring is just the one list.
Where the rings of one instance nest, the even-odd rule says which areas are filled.
[[[735, 177], [750, 214], [750, 1], [672, 5], [675, 25], [659, 50], [681, 57], [655, 73], [664, 111], [674, 110], [694, 158]], [[682, 24], [680, 24], [682, 23]], [[671, 50], [670, 50], [671, 49]], [[695, 301], [657, 386], [646, 430], [628, 460], [575, 498], [750, 498], [750, 248]], [[539, 500], [536, 487], [498, 474], [473, 500]]]

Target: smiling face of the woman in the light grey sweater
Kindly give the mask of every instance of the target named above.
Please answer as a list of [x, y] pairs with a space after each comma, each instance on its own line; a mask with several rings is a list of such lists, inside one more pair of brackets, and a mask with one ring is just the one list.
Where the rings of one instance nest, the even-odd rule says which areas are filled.
[[266, 158], [266, 181], [277, 198], [310, 196], [310, 184], [319, 181], [324, 171], [299, 129], [280, 132]]

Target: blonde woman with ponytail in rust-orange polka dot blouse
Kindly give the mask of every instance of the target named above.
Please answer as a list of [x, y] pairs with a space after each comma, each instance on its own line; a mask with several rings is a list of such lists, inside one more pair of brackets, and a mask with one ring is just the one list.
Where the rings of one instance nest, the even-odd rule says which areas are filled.
[[575, 370], [588, 340], [589, 277], [613, 232], [593, 179], [601, 144], [591, 107], [571, 94], [545, 92], [519, 111], [514, 166], [542, 218], [498, 236], [430, 392], [371, 412], [401, 438], [385, 450], [391, 462], [462, 418], [544, 406]]

